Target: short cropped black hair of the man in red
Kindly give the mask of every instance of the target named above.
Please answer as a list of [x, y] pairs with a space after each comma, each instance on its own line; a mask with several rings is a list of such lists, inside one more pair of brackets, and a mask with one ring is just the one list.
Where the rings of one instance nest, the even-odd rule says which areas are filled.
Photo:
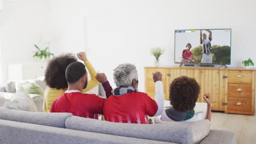
[[85, 65], [80, 62], [73, 62], [66, 69], [66, 80], [68, 83], [75, 83], [85, 74]]

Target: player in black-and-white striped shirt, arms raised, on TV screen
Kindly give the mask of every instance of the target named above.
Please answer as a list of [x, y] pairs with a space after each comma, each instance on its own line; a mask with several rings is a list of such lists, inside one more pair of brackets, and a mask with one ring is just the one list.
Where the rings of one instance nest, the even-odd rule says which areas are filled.
[[209, 37], [207, 39], [207, 35], [205, 33], [202, 34], [202, 30], [200, 30], [200, 44], [202, 45], [202, 59], [201, 63], [212, 63], [212, 31], [206, 30], [209, 33]]

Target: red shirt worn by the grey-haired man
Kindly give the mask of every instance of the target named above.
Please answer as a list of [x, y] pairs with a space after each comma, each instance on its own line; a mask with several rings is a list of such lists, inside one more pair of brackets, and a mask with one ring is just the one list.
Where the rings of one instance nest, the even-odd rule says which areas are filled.
[[111, 95], [104, 104], [106, 121], [120, 123], [148, 123], [148, 117], [154, 116], [158, 105], [148, 94], [127, 93], [121, 96]]

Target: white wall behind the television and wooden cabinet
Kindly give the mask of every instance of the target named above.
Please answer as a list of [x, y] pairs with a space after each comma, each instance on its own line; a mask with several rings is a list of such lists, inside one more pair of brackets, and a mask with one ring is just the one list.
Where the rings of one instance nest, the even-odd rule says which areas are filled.
[[160, 46], [161, 65], [174, 65], [174, 29], [232, 28], [231, 65], [251, 57], [255, 39], [255, 1], [51, 1], [51, 22], [59, 38], [55, 52], [88, 52], [96, 70], [113, 84], [113, 69], [136, 64], [144, 91], [144, 66], [154, 64], [150, 48]]

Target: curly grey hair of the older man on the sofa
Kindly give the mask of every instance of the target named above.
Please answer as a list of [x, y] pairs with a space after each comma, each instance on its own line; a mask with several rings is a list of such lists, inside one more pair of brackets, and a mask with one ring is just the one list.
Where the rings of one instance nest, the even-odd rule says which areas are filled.
[[117, 87], [129, 87], [132, 85], [132, 80], [138, 80], [138, 73], [135, 65], [130, 63], [119, 64], [114, 69], [114, 83]]

